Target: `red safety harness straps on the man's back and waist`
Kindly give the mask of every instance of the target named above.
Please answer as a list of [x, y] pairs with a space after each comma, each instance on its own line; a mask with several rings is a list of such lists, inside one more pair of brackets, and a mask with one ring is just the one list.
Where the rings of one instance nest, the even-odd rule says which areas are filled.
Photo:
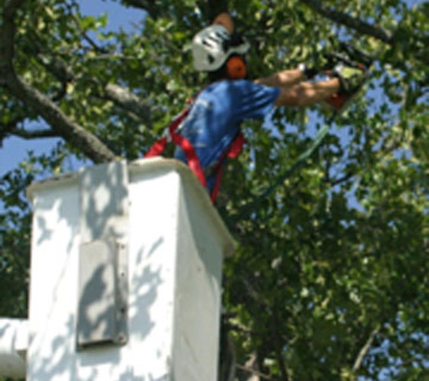
[[[188, 166], [190, 167], [191, 171], [197, 176], [198, 180], [201, 182], [201, 185], [204, 188], [207, 188], [206, 173], [201, 166], [200, 159], [195, 152], [194, 147], [188, 139], [186, 139], [177, 131], [179, 126], [182, 125], [183, 120], [190, 113], [194, 101], [195, 98], [192, 98], [190, 101], [188, 101], [187, 107], [185, 107], [182, 112], [178, 116], [176, 116], [173, 119], [172, 123], [168, 126], [167, 132], [169, 135], [165, 135], [161, 139], [156, 141], [149, 149], [149, 151], [145, 154], [145, 158], [161, 155], [165, 150], [165, 146], [167, 145], [167, 143], [171, 141], [173, 144], [178, 145], [182, 148], [182, 151], [186, 156], [186, 160], [188, 161]], [[241, 132], [239, 132], [238, 135], [236, 135], [236, 137], [234, 138], [233, 142], [221, 154], [218, 163], [215, 164], [213, 172], [216, 173], [216, 181], [213, 190], [211, 190], [210, 193], [210, 199], [212, 202], [215, 202], [218, 196], [220, 181], [222, 178], [222, 167], [225, 159], [235, 159], [241, 152], [244, 143], [244, 136], [241, 134]]]

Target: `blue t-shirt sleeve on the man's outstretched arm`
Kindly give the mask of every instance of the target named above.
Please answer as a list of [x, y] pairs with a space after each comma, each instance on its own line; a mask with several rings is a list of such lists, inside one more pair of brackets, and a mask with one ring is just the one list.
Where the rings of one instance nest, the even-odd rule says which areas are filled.
[[264, 119], [275, 105], [280, 88], [269, 88], [246, 79], [234, 82], [236, 120]]

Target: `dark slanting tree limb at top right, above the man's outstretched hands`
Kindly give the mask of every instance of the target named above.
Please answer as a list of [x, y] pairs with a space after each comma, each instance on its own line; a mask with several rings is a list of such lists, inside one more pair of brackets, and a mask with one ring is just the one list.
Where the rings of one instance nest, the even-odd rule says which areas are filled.
[[349, 14], [336, 11], [331, 7], [323, 5], [322, 2], [318, 0], [301, 0], [301, 3], [312, 8], [315, 13], [321, 14], [323, 17], [326, 17], [335, 23], [340, 23], [341, 25], [354, 29], [359, 33], [368, 34], [382, 42], [387, 42], [389, 45], [394, 44], [394, 34], [386, 31], [385, 29], [377, 28], [374, 25], [359, 20], [356, 17], [352, 17]]

